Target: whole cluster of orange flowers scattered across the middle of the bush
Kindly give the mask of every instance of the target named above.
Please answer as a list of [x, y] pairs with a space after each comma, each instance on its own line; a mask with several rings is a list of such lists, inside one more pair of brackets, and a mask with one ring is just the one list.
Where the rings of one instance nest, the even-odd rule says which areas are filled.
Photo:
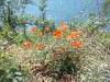
[[[50, 32], [50, 26], [46, 26], [44, 30], [45, 30], [45, 32]], [[38, 36], [35, 36], [36, 39], [38, 39], [38, 37], [44, 35], [43, 32], [37, 32], [37, 31], [38, 31], [37, 26], [31, 27], [32, 34], [38, 33]], [[65, 35], [66, 32], [67, 32], [67, 34]], [[62, 22], [59, 27], [56, 28], [55, 31], [53, 31], [50, 35], [53, 36], [55, 39], [65, 38], [67, 40], [67, 43], [69, 43], [69, 46], [73, 48], [81, 48], [82, 47], [82, 42], [79, 40], [81, 32], [80, 31], [69, 31], [68, 25], [64, 22]], [[46, 36], [44, 36], [44, 37], [46, 37]], [[44, 40], [44, 42], [46, 42], [46, 40]], [[34, 46], [35, 46], [34, 48], [36, 50], [43, 50], [46, 45], [44, 45], [43, 43], [34, 43]], [[23, 42], [23, 47], [25, 49], [30, 49], [30, 48], [32, 48], [32, 43], [30, 40], [25, 40], [25, 42]]]

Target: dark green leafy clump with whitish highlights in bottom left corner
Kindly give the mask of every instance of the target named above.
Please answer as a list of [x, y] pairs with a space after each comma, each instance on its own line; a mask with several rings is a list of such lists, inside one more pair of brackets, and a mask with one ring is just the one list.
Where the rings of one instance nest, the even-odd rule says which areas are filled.
[[0, 69], [0, 82], [22, 82], [22, 77], [23, 74], [21, 73], [21, 71], [16, 70], [16, 69], [9, 69], [9, 70], [3, 70]]

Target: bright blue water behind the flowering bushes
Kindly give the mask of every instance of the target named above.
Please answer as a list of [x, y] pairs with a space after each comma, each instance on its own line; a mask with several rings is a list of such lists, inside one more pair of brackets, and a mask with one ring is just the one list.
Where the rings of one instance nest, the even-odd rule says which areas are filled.
[[[48, 0], [46, 16], [56, 23], [62, 20], [67, 22], [73, 17], [86, 17], [90, 12], [97, 13], [97, 0]], [[25, 13], [40, 15], [35, 5], [28, 5]]]

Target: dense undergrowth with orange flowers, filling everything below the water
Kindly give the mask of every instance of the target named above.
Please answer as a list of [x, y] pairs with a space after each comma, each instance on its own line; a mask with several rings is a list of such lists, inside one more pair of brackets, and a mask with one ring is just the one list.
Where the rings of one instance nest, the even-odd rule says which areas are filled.
[[[0, 82], [109, 82], [110, 34], [106, 20], [91, 17], [53, 28], [45, 22], [13, 33], [4, 24], [0, 33]], [[24, 26], [24, 27], [23, 27]]]

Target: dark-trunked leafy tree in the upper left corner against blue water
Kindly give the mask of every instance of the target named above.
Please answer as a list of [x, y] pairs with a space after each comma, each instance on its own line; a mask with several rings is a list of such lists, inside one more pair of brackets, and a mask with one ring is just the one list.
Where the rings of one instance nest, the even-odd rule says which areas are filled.
[[16, 12], [31, 3], [31, 0], [0, 0], [0, 19], [1, 23], [9, 23], [11, 30], [15, 32]]

